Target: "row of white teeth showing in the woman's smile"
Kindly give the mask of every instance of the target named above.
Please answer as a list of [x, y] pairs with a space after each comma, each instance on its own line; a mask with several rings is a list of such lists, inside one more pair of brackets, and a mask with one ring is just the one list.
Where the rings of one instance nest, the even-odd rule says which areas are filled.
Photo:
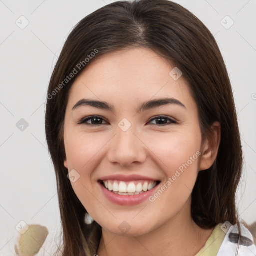
[[134, 182], [129, 182], [126, 184], [124, 181], [120, 181], [118, 184], [116, 180], [113, 181], [113, 183], [111, 183], [112, 181], [109, 181], [109, 180], [104, 180], [103, 182], [105, 184], [105, 187], [109, 191], [112, 191], [116, 194], [122, 194], [122, 195], [134, 195], [134, 194], [143, 193], [156, 186], [156, 181], [151, 181], [149, 183], [148, 181], [145, 181], [144, 183], [142, 182], [143, 185], [141, 182], [135, 185]]

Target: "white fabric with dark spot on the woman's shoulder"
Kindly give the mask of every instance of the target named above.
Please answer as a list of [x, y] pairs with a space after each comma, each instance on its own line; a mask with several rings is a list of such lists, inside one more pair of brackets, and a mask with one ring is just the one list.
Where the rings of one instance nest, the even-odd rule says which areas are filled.
[[[221, 229], [226, 233], [224, 240], [219, 248], [217, 256], [255, 256], [256, 245], [250, 231], [241, 223], [241, 237], [238, 249], [238, 227], [237, 224], [231, 225], [228, 221], [221, 225]], [[237, 251], [238, 250], [238, 251]], [[236, 254], [237, 252], [237, 254]]]

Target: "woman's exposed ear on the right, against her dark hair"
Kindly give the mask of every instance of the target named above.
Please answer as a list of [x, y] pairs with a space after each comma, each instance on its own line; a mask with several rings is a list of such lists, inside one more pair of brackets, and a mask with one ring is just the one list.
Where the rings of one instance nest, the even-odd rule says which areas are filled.
[[206, 170], [214, 163], [218, 154], [220, 136], [220, 124], [219, 122], [214, 122], [211, 126], [211, 134], [209, 134], [202, 145], [199, 170]]

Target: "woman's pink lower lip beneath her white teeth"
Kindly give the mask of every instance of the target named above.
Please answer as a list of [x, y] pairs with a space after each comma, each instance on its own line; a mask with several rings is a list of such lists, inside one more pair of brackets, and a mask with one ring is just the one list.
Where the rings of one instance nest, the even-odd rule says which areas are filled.
[[[160, 184], [160, 183], [159, 183]], [[158, 185], [159, 185], [158, 184]], [[111, 191], [109, 191], [107, 188], [105, 188], [100, 182], [99, 186], [102, 189], [103, 194], [106, 196], [106, 198], [116, 204], [119, 205], [136, 205], [139, 204], [146, 199], [148, 199], [149, 196], [151, 196], [155, 190], [157, 189], [158, 185], [153, 187], [152, 189], [141, 193], [141, 194], [135, 194], [135, 195], [121, 195], [121, 194], [115, 194]]]

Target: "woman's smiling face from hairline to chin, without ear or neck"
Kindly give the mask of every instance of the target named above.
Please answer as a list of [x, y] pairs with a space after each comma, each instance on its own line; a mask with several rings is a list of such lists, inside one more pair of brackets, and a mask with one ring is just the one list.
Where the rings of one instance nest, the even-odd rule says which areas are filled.
[[174, 67], [149, 49], [129, 48], [95, 59], [70, 89], [64, 165], [105, 231], [140, 235], [191, 214], [201, 132]]

